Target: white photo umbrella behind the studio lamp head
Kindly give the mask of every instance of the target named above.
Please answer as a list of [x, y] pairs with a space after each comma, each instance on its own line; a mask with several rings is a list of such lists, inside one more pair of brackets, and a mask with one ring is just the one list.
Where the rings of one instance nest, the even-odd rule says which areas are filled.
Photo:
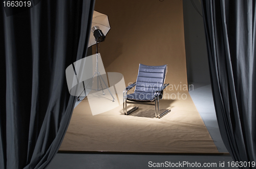
[[[106, 34], [108, 34], [110, 30], [108, 15], [99, 13], [97, 11], [93, 11], [92, 27], [94, 26], [99, 26], [99, 29], [106, 36]], [[96, 44], [96, 41], [95, 41], [95, 37], [93, 36], [93, 32], [91, 31], [88, 47], [94, 44]]]

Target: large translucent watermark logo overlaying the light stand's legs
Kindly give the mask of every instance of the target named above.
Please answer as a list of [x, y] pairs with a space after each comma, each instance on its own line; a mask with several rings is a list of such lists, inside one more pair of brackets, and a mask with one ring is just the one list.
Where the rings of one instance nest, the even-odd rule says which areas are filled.
[[109, 111], [123, 103], [123, 75], [105, 72], [100, 53], [74, 62], [66, 69], [66, 78], [72, 96], [87, 97], [92, 115]]

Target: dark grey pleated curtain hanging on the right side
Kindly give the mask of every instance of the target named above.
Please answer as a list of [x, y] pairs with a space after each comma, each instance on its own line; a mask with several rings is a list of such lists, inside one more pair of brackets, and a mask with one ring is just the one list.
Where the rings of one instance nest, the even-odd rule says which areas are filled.
[[255, 1], [202, 0], [202, 9], [223, 142], [235, 161], [256, 161]]

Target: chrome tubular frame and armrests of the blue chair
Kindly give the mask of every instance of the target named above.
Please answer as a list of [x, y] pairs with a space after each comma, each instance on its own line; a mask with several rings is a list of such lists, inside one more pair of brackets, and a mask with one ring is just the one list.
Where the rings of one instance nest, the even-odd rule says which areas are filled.
[[162, 112], [161, 114], [159, 112], [159, 95], [168, 85], [169, 85], [169, 83], [168, 84], [165, 83], [162, 87], [160, 87], [156, 90], [156, 92], [154, 93], [155, 100], [149, 101], [149, 102], [155, 102], [155, 103], [148, 103], [148, 102], [144, 102], [144, 101], [131, 101], [131, 100], [127, 101], [127, 92], [136, 86], [136, 82], [134, 82], [132, 85], [126, 87], [123, 91], [123, 113], [124, 113], [124, 115], [130, 115], [133, 111], [135, 111], [139, 108], [139, 107], [135, 106], [132, 109], [127, 111], [127, 103], [155, 106], [155, 116], [156, 116], [156, 118], [159, 118], [159, 119], [162, 118], [163, 116], [165, 116], [166, 114], [168, 114], [168, 112], [171, 111], [170, 109], [167, 109], [166, 111]]

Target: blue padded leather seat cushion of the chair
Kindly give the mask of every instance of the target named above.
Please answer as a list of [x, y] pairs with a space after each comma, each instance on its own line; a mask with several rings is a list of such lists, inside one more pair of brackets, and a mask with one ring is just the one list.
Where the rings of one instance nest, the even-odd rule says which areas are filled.
[[154, 101], [154, 93], [134, 92], [127, 95], [127, 100], [130, 101]]

